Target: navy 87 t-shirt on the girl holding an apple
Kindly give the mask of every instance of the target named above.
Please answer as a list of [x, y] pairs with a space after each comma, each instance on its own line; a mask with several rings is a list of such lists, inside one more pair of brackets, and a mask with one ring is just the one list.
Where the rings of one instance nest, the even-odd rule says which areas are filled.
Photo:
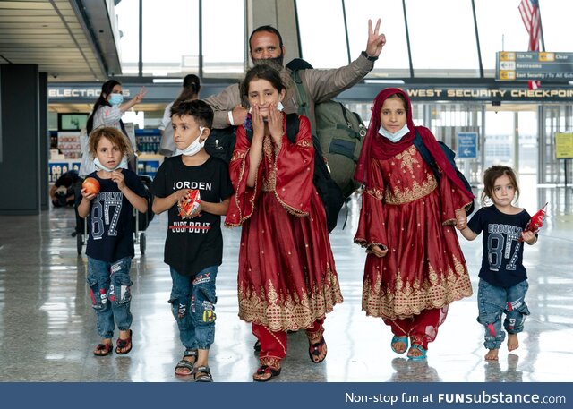
[[[140, 177], [131, 170], [122, 169], [125, 185], [135, 194], [147, 197], [147, 190]], [[111, 179], [93, 177], [99, 182], [98, 196], [91, 200], [90, 237], [86, 254], [92, 259], [114, 262], [135, 255], [133, 250], [133, 206]]]

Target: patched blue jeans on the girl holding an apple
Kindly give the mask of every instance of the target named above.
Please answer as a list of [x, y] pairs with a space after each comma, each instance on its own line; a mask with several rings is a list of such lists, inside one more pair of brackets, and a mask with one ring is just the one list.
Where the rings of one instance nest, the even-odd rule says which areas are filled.
[[132, 326], [132, 301], [129, 269], [132, 258], [107, 262], [88, 257], [88, 285], [91, 303], [98, 318], [98, 333], [102, 338], [114, 336], [115, 323], [121, 331]]

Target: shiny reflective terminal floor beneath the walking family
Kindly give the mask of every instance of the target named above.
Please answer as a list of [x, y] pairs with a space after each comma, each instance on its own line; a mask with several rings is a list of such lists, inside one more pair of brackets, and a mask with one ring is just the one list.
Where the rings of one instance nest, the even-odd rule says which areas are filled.
[[[522, 192], [526, 192], [522, 186]], [[533, 189], [531, 191], [534, 191]], [[326, 320], [327, 359], [310, 361], [304, 333], [290, 334], [283, 371], [273, 381], [573, 381], [572, 191], [537, 188], [524, 193], [530, 214], [549, 201], [538, 243], [526, 246], [526, 302], [531, 316], [520, 346], [499, 362], [484, 362], [483, 328], [475, 321], [475, 294], [454, 302], [428, 359], [408, 362], [389, 348], [389, 328], [361, 311], [364, 253], [352, 243], [358, 200], [349, 203], [330, 235], [345, 302]], [[525, 197], [527, 196], [527, 197]], [[528, 200], [528, 201], [526, 201]], [[73, 209], [50, 209], [37, 217], [0, 217], [0, 380], [192, 381], [177, 378], [183, 353], [167, 299], [170, 277], [163, 263], [167, 217], [145, 232], [146, 251], [133, 259], [133, 351], [95, 357], [99, 338], [90, 307], [85, 254], [78, 256]], [[236, 271], [240, 230], [225, 229], [224, 263], [218, 272], [217, 332], [210, 352], [215, 381], [251, 382], [258, 360], [250, 325], [237, 318]], [[481, 239], [462, 249], [474, 288]], [[85, 250], [85, 249], [83, 249]]]

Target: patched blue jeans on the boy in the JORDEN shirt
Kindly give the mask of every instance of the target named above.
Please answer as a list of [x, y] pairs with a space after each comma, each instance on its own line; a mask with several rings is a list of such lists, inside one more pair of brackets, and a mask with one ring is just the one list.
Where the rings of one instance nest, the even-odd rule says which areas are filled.
[[208, 267], [189, 277], [171, 268], [173, 287], [169, 303], [186, 349], [209, 349], [215, 340], [217, 269]]

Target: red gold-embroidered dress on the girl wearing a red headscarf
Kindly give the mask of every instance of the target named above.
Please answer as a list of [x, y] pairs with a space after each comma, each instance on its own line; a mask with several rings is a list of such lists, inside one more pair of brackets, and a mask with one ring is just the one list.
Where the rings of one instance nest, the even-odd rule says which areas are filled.
[[438, 184], [414, 145], [371, 163], [371, 187], [363, 193], [355, 242], [382, 244], [389, 252], [367, 257], [363, 310], [395, 320], [471, 295], [466, 260], [452, 226], [455, 210], [471, 197], [445, 175]]

